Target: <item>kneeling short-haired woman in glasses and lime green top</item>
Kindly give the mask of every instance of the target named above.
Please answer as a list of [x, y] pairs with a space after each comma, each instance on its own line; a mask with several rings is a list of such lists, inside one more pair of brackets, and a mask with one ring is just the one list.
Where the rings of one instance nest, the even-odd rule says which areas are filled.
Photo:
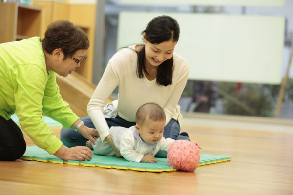
[[[89, 41], [69, 21], [49, 25], [45, 38], [33, 37], [0, 44], [0, 160], [15, 160], [26, 150], [21, 129], [40, 148], [64, 160], [90, 160], [87, 147], [67, 148], [44, 122], [42, 112], [95, 141], [88, 128], [64, 102], [56, 74], [66, 77], [84, 58]], [[21, 129], [11, 119], [16, 113]]]

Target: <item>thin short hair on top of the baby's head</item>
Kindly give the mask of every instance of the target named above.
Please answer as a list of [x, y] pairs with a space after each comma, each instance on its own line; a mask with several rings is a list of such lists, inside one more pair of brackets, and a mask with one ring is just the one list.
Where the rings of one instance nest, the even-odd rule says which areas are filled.
[[146, 103], [139, 107], [139, 109], [136, 112], [136, 124], [142, 125], [146, 118], [152, 121], [162, 121], [166, 120], [166, 115], [164, 110], [158, 104]]

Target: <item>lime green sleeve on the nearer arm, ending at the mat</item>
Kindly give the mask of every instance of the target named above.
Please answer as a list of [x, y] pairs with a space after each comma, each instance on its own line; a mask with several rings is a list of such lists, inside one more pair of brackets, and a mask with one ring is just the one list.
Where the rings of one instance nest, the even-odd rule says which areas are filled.
[[42, 117], [42, 99], [46, 72], [39, 65], [17, 65], [7, 75], [13, 85], [16, 114], [22, 130], [40, 148], [54, 154], [62, 142], [49, 129]]

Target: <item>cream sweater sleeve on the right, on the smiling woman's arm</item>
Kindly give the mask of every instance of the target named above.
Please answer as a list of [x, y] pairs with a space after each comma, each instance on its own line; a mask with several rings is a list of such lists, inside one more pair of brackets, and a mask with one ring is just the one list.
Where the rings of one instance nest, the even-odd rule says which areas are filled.
[[[186, 63], [186, 62], [184, 61], [184, 63]], [[165, 126], [172, 119], [175, 107], [179, 102], [181, 94], [182, 94], [182, 92], [185, 88], [185, 85], [187, 83], [187, 80], [188, 80], [189, 66], [185, 66], [185, 65], [186, 64], [182, 64], [182, 67], [183, 67], [182, 69], [179, 69], [179, 67], [177, 67], [177, 69], [175, 70], [175, 71], [179, 71], [180, 75], [179, 75], [179, 78], [177, 81], [174, 82], [174, 80], [173, 80], [173, 83], [176, 83], [175, 88], [174, 88], [172, 94], [169, 96], [167, 103], [163, 107], [163, 110], [166, 115]], [[176, 74], [176, 73], [174, 73], [174, 74]]]

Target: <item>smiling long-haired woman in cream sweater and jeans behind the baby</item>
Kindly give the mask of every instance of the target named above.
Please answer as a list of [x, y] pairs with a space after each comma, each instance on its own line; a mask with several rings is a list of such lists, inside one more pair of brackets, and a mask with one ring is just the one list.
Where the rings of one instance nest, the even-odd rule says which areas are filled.
[[[89, 117], [84, 117], [88, 127], [96, 128], [103, 143], [109, 143], [116, 156], [121, 156], [110, 136], [109, 128], [135, 125], [137, 109], [149, 102], [160, 105], [166, 114], [164, 137], [189, 139], [180, 134], [179, 98], [188, 80], [189, 65], [174, 53], [179, 40], [179, 24], [170, 16], [152, 19], [142, 32], [144, 44], [135, 44], [117, 52], [108, 62], [87, 106]], [[105, 102], [119, 86], [118, 103], [113, 102], [114, 115], [105, 118]], [[104, 113], [103, 113], [104, 108]], [[86, 145], [86, 139], [72, 129], [61, 130], [61, 140], [68, 147]], [[167, 157], [167, 153], [158, 153]]]

